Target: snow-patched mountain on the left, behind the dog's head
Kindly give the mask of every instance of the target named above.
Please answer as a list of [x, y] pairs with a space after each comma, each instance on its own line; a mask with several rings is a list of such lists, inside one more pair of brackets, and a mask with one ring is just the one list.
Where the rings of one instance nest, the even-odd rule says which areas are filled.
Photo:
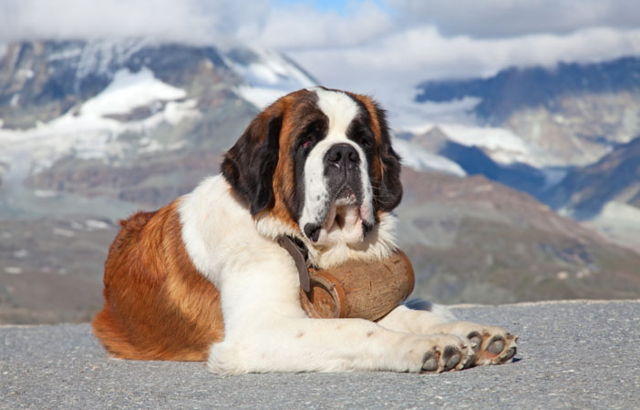
[[[9, 46], [0, 62], [0, 178], [37, 176], [62, 159], [118, 166], [199, 149], [192, 129], [160, 135], [162, 127], [199, 122], [232, 100], [258, 104], [258, 96], [314, 83], [283, 56], [249, 48], [225, 54], [142, 40]], [[251, 115], [255, 108], [244, 105]], [[142, 137], [127, 138], [132, 134]], [[219, 139], [218, 151], [236, 135]], [[9, 166], [18, 162], [21, 167]]]

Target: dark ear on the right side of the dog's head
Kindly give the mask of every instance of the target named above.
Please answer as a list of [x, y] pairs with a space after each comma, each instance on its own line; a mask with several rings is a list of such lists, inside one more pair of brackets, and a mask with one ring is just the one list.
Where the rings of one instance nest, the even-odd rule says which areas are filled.
[[402, 182], [400, 182], [400, 156], [391, 147], [391, 137], [387, 126], [385, 110], [376, 107], [378, 126], [380, 127], [380, 145], [378, 155], [382, 163], [380, 190], [376, 198], [377, 209], [390, 211], [402, 200]]

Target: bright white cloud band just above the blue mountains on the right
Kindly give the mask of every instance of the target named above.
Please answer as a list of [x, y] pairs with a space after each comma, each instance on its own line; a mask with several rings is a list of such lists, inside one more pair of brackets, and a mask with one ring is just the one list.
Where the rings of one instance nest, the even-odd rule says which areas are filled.
[[433, 26], [418, 26], [365, 46], [310, 49], [292, 56], [331, 87], [377, 92], [431, 78], [489, 76], [508, 66], [552, 67], [559, 61], [639, 54], [640, 29], [597, 28], [565, 36], [476, 39], [441, 36]]

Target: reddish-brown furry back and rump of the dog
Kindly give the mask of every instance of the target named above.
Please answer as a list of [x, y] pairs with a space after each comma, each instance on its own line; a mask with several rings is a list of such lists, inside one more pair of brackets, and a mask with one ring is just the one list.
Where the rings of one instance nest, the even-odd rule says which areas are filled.
[[184, 250], [178, 204], [120, 222], [105, 262], [105, 305], [93, 322], [115, 357], [201, 361], [222, 340], [220, 294]]

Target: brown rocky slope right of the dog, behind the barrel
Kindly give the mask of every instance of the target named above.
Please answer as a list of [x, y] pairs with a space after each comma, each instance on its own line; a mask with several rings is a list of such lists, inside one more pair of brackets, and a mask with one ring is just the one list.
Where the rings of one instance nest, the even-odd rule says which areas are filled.
[[633, 298], [640, 255], [482, 176], [405, 169], [397, 210], [417, 294], [438, 302]]

